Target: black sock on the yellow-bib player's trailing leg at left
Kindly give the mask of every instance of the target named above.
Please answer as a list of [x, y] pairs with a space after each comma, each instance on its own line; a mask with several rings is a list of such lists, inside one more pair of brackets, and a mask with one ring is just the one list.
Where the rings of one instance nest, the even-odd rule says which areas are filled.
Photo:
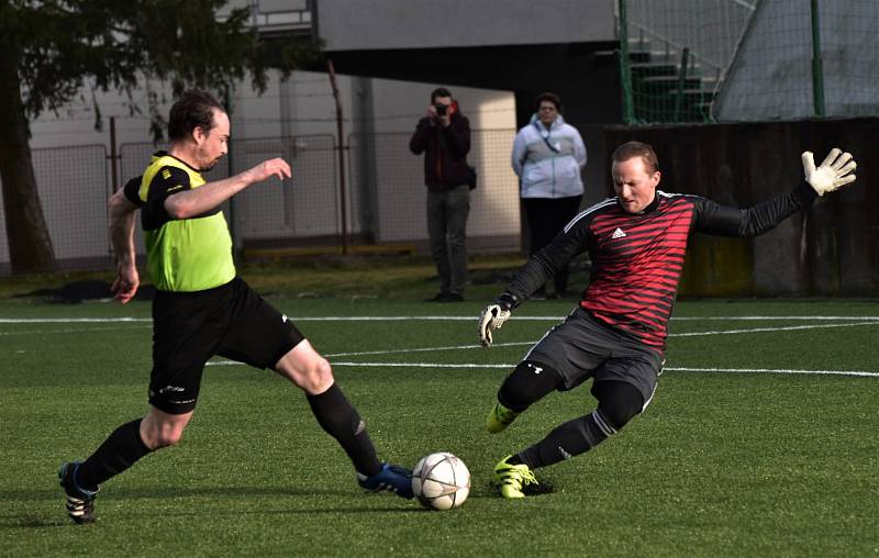
[[123, 424], [79, 466], [76, 482], [86, 490], [97, 490], [149, 451], [141, 439], [141, 418]]

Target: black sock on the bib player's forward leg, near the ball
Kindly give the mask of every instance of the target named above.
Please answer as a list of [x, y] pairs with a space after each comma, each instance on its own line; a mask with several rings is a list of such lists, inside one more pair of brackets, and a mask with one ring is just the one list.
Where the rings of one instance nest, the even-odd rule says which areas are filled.
[[336, 438], [348, 454], [354, 468], [367, 477], [381, 470], [376, 457], [376, 447], [369, 439], [366, 425], [352, 406], [342, 390], [333, 383], [329, 390], [318, 395], [307, 395], [311, 412], [327, 434]]

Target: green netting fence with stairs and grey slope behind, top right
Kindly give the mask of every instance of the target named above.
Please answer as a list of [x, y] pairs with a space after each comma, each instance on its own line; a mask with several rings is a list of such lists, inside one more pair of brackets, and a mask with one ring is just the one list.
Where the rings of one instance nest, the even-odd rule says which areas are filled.
[[879, 0], [617, 0], [632, 123], [879, 114]]

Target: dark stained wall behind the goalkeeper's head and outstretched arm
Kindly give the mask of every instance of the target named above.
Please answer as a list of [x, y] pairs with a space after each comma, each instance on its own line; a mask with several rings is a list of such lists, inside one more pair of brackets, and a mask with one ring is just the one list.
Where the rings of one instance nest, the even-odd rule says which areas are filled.
[[[680, 293], [685, 295], [879, 294], [879, 170], [872, 150], [879, 119], [611, 127], [609, 146], [630, 140], [654, 146], [660, 189], [704, 196], [739, 208], [786, 192], [803, 180], [800, 153], [816, 163], [835, 146], [858, 163], [858, 179], [820, 198], [776, 230], [753, 239], [696, 235]], [[610, 153], [604, 161], [610, 168]], [[605, 189], [612, 191], [608, 174]]]

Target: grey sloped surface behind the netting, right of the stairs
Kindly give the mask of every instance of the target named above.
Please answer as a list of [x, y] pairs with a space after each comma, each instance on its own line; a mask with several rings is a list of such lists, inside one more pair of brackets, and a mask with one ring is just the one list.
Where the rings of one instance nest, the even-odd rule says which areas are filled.
[[713, 116], [876, 116], [877, 29], [877, 0], [761, 1], [725, 72]]

